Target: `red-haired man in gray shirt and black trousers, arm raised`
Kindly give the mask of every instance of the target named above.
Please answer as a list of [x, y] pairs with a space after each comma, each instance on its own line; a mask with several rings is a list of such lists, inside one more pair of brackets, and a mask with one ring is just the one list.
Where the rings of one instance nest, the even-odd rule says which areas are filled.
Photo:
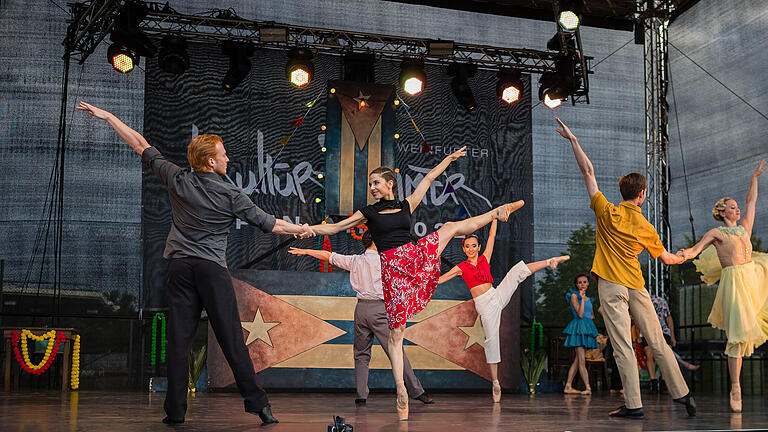
[[195, 137], [187, 147], [193, 171], [169, 162], [141, 134], [111, 113], [80, 102], [79, 110], [105, 120], [139, 155], [168, 190], [172, 223], [163, 256], [168, 266], [168, 392], [163, 423], [184, 422], [187, 411], [188, 353], [202, 309], [232, 368], [245, 411], [263, 423], [277, 423], [259, 385], [243, 341], [232, 279], [227, 270], [227, 236], [242, 219], [264, 232], [314, 233], [307, 226], [277, 219], [257, 207], [239, 188], [224, 181], [229, 158], [217, 135]]

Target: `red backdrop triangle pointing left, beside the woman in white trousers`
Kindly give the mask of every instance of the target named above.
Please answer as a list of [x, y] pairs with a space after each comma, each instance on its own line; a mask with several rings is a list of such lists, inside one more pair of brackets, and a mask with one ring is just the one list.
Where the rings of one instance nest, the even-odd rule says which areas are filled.
[[468, 300], [406, 328], [405, 338], [490, 381], [483, 347], [475, 343], [464, 349], [469, 336], [459, 327], [472, 327], [475, 321], [475, 301]]

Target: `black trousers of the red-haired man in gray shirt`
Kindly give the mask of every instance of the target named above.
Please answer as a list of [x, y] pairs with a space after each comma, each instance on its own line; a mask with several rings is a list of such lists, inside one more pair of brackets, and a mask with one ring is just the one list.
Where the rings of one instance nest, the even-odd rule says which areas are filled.
[[165, 412], [174, 420], [187, 411], [189, 351], [203, 308], [245, 399], [245, 410], [260, 411], [267, 394], [259, 385], [243, 341], [235, 290], [227, 269], [200, 258], [175, 258], [168, 266], [168, 392]]

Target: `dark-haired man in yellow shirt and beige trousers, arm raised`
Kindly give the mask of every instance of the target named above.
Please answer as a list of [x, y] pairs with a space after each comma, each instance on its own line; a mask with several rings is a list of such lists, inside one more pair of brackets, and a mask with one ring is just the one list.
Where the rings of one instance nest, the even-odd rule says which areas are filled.
[[597, 290], [602, 306], [605, 327], [614, 348], [616, 365], [624, 384], [624, 405], [612, 411], [612, 417], [642, 417], [640, 378], [637, 360], [632, 349], [630, 311], [635, 323], [645, 335], [648, 345], [667, 380], [669, 393], [675, 402], [685, 405], [689, 416], [696, 415], [696, 403], [688, 391], [683, 375], [677, 367], [672, 349], [664, 341], [661, 325], [656, 317], [651, 297], [645, 289], [643, 273], [637, 255], [647, 250], [653, 258], [664, 264], [680, 264], [684, 260], [664, 249], [659, 235], [640, 207], [645, 201], [646, 180], [639, 173], [630, 173], [619, 180], [623, 201], [615, 206], [608, 202], [597, 188], [595, 169], [576, 136], [557, 119], [562, 129], [557, 132], [571, 143], [571, 149], [595, 212], [597, 239], [592, 274], [597, 279]]

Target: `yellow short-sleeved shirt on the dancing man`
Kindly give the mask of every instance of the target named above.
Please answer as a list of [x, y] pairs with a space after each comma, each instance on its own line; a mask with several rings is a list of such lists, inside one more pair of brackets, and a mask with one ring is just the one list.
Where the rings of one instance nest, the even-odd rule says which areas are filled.
[[643, 249], [653, 258], [664, 252], [656, 229], [643, 217], [640, 207], [626, 201], [615, 206], [600, 191], [589, 206], [597, 222], [592, 273], [627, 288], [643, 289], [645, 280], [637, 256]]

